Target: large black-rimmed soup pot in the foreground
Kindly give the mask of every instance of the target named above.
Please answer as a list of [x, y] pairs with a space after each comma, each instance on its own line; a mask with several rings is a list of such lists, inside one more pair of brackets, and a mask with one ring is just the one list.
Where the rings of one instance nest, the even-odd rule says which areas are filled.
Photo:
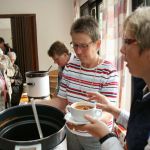
[[43, 138], [40, 139], [31, 104], [0, 113], [0, 150], [66, 150], [64, 114], [37, 104]]

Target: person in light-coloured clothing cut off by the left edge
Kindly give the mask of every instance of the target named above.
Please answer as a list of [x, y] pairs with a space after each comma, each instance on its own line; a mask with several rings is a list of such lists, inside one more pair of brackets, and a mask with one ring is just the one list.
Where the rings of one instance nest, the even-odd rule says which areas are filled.
[[13, 65], [0, 48], [0, 111], [10, 107], [12, 94], [10, 77], [14, 75]]

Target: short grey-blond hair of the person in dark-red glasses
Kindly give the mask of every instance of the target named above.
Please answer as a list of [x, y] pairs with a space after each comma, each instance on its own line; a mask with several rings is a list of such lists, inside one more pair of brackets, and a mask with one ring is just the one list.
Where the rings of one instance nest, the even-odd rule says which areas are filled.
[[150, 48], [150, 7], [139, 7], [128, 16], [124, 22], [125, 30], [135, 37], [141, 53]]

